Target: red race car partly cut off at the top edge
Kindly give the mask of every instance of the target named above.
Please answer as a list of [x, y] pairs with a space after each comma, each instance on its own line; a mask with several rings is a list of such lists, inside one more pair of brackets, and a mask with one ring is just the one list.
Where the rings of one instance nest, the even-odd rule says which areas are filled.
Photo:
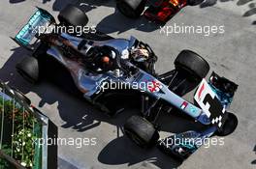
[[[185, 6], [199, 5], [204, 0], [117, 0], [116, 8], [121, 14], [138, 18], [144, 13], [149, 20], [166, 23]], [[146, 4], [149, 7], [145, 10]]]

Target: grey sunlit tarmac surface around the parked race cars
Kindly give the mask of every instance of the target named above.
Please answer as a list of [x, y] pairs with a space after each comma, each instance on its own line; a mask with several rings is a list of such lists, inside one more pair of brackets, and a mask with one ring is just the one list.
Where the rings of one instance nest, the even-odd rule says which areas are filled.
[[[154, 168], [255, 168], [256, 167], [256, 1], [210, 0], [201, 6], [186, 7], [165, 26], [217, 26], [224, 33], [163, 33], [144, 18], [128, 19], [117, 13], [113, 0], [80, 0], [89, 16], [89, 25], [115, 38], [131, 35], [147, 42], [159, 57], [157, 71], [174, 69], [173, 62], [182, 49], [205, 57], [210, 70], [238, 83], [231, 111], [239, 118], [237, 130], [225, 137], [223, 146], [201, 148], [182, 164], [156, 148], [141, 150], [125, 136], [120, 127], [137, 110], [127, 110], [114, 118], [95, 110], [48, 83], [33, 86], [15, 70], [16, 63], [30, 53], [9, 37], [15, 36], [35, 6], [56, 16], [68, 3], [77, 0], [1, 0], [0, 2], [0, 79], [9, 82], [32, 99], [59, 129], [60, 138], [96, 138], [95, 146], [59, 146], [60, 169], [154, 169]], [[222, 31], [223, 31], [222, 30]], [[166, 31], [165, 31], [166, 32]], [[207, 33], [206, 33], [207, 34]], [[192, 99], [193, 92], [185, 98]], [[162, 135], [193, 128], [193, 122], [175, 115], [164, 115]]]

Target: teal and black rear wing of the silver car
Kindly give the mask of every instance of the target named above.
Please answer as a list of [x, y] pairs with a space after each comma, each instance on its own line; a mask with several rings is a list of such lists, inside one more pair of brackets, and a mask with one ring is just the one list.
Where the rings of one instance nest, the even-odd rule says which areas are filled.
[[37, 9], [37, 12], [29, 18], [28, 22], [16, 34], [16, 37], [12, 38], [17, 44], [27, 49], [33, 49], [32, 46], [37, 42], [37, 40], [35, 42], [32, 41], [39, 31], [46, 31], [50, 24], [55, 23], [54, 17], [46, 10], [38, 7]]

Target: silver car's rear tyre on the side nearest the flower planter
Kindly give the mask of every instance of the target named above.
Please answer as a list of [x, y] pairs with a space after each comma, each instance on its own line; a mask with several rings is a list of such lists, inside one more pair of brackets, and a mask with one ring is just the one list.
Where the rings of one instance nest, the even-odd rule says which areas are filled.
[[30, 83], [39, 80], [39, 63], [35, 57], [25, 57], [16, 65], [17, 72]]

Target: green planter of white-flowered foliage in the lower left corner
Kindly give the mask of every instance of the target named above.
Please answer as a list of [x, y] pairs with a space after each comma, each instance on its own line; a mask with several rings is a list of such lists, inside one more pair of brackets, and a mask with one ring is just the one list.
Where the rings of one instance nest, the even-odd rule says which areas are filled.
[[[26, 168], [42, 168], [42, 124], [15, 99], [0, 95], [0, 150]], [[34, 140], [38, 140], [34, 143]], [[0, 169], [16, 168], [0, 158]]]

